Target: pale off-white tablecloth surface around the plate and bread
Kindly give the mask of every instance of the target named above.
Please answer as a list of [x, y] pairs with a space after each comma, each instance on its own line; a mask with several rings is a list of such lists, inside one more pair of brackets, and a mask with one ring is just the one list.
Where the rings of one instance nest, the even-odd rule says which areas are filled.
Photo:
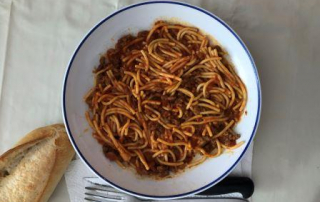
[[[0, 153], [28, 131], [62, 121], [60, 89], [74, 48], [96, 22], [133, 2], [0, 1]], [[259, 71], [253, 201], [319, 201], [320, 1], [187, 2], [226, 21]], [[67, 200], [62, 180], [50, 201]]]

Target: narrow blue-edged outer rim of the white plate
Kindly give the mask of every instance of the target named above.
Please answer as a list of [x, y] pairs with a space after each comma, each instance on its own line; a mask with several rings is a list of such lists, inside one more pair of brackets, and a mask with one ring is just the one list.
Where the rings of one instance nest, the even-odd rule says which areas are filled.
[[[79, 148], [77, 147], [73, 136], [71, 134], [70, 128], [69, 128], [69, 124], [68, 124], [68, 120], [67, 120], [67, 112], [66, 112], [66, 107], [65, 107], [65, 92], [66, 92], [66, 88], [67, 88], [67, 79], [69, 76], [69, 71], [71, 69], [73, 60], [75, 58], [75, 56], [77, 55], [79, 49], [82, 47], [83, 43], [87, 40], [87, 38], [104, 22], [106, 22], [107, 20], [109, 20], [110, 18], [112, 18], [113, 16], [122, 13], [123, 11], [126, 11], [128, 9], [134, 8], [134, 7], [138, 7], [138, 6], [143, 6], [143, 5], [147, 5], [147, 4], [175, 4], [175, 5], [180, 5], [180, 6], [185, 6], [185, 7], [189, 7], [192, 9], [195, 9], [199, 12], [202, 12], [210, 17], [212, 17], [213, 19], [217, 20], [220, 24], [222, 24], [225, 28], [227, 28], [235, 37], [236, 39], [239, 41], [239, 43], [241, 44], [241, 46], [243, 47], [243, 49], [246, 51], [248, 57], [250, 58], [252, 67], [253, 67], [253, 71], [255, 73], [255, 77], [256, 77], [256, 84], [257, 84], [257, 89], [258, 89], [258, 111], [257, 111], [257, 117], [256, 117], [256, 121], [255, 121], [255, 125], [252, 131], [252, 134], [250, 136], [249, 139], [249, 143], [247, 144], [246, 148], [243, 150], [243, 152], [241, 153], [241, 155], [239, 156], [239, 158], [237, 159], [237, 161], [224, 173], [222, 174], [219, 178], [217, 178], [216, 180], [212, 181], [211, 183], [196, 189], [194, 191], [191, 192], [187, 192], [187, 193], [183, 193], [183, 194], [177, 194], [177, 195], [169, 195], [169, 196], [152, 196], [152, 195], [146, 195], [146, 194], [141, 194], [141, 193], [137, 193], [134, 191], [130, 191], [128, 189], [122, 188], [116, 184], [114, 184], [113, 182], [110, 182], [108, 179], [106, 179], [105, 177], [103, 177], [100, 173], [98, 173], [90, 164], [89, 162], [84, 158], [84, 156], [82, 155], [82, 153], [80, 152]], [[65, 123], [65, 126], [67, 128], [67, 133], [69, 136], [69, 139], [72, 142], [73, 147], [75, 148], [77, 154], [80, 156], [80, 158], [85, 162], [85, 164], [97, 175], [99, 176], [101, 179], [105, 180], [107, 183], [109, 183], [110, 185], [114, 186], [115, 188], [118, 188], [128, 194], [134, 195], [134, 196], [139, 196], [139, 197], [143, 197], [143, 198], [149, 198], [149, 199], [175, 199], [175, 198], [182, 198], [188, 195], [192, 195], [192, 194], [197, 194], [200, 193], [208, 188], [210, 188], [211, 186], [217, 184], [218, 182], [220, 182], [222, 179], [224, 179], [234, 168], [235, 166], [239, 163], [239, 161], [242, 159], [243, 155], [246, 153], [248, 147], [250, 146], [250, 144], [252, 143], [252, 140], [255, 136], [255, 133], [257, 131], [257, 127], [259, 125], [259, 121], [260, 121], [260, 114], [261, 114], [261, 86], [260, 86], [260, 80], [259, 80], [259, 75], [258, 75], [258, 71], [256, 68], [256, 65], [254, 63], [254, 60], [248, 50], [248, 48], [246, 47], [246, 45], [244, 44], [244, 42], [240, 39], [240, 37], [235, 33], [235, 31], [233, 31], [233, 29], [227, 25], [227, 23], [225, 23], [223, 20], [221, 20], [219, 17], [215, 16], [214, 14], [210, 13], [209, 11], [206, 11], [202, 8], [190, 5], [190, 4], [186, 4], [186, 3], [181, 3], [181, 2], [173, 2], [173, 1], [149, 1], [149, 2], [143, 2], [143, 3], [138, 3], [138, 4], [133, 4], [130, 5], [128, 7], [122, 8], [118, 11], [115, 11], [114, 13], [110, 14], [109, 16], [107, 16], [106, 18], [104, 18], [101, 22], [99, 22], [97, 25], [95, 25], [88, 33], [87, 35], [82, 39], [82, 41], [80, 42], [80, 44], [78, 45], [76, 51], [74, 52], [74, 54], [72, 55], [72, 58], [69, 62], [68, 68], [66, 70], [65, 73], [65, 77], [64, 77], [64, 83], [63, 83], [63, 90], [62, 90], [62, 115], [63, 115], [63, 120]]]

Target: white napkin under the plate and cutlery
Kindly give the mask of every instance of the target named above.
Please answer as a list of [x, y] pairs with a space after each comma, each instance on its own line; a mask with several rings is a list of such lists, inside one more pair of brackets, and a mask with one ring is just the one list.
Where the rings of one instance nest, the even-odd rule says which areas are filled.
[[[251, 177], [252, 167], [252, 150], [253, 144], [250, 145], [246, 154], [243, 156], [240, 163], [231, 172], [230, 176]], [[71, 202], [84, 201], [85, 186], [89, 185], [84, 178], [97, 177], [89, 168], [77, 158], [72, 161], [65, 173], [68, 193]], [[101, 184], [107, 184], [101, 180]]]

